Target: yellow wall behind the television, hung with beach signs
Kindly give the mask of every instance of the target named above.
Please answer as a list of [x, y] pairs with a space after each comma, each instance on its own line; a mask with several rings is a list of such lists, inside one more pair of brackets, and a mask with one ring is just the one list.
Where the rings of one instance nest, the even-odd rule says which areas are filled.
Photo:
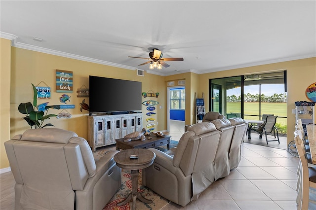
[[[6, 39], [1, 39], [6, 40]], [[9, 43], [10, 46], [10, 43]], [[2, 49], [2, 46], [1, 46]], [[14, 135], [22, 134], [25, 130], [30, 129], [30, 126], [26, 123], [22, 117], [24, 116], [18, 111], [18, 105], [20, 103], [31, 102], [33, 104], [33, 89], [31, 83], [34, 85], [39, 84], [43, 81], [51, 88], [51, 99], [48, 100], [38, 100], [38, 104], [49, 102], [48, 105], [62, 105], [59, 102], [59, 97], [63, 93], [56, 93], [55, 90], [55, 79], [56, 79], [56, 69], [57, 70], [69, 70], [73, 71], [73, 93], [69, 94], [71, 96], [70, 101], [67, 104], [75, 105], [74, 109], [67, 109], [68, 112], [72, 114], [70, 119], [60, 118], [57, 119], [55, 117], [45, 120], [44, 123], [52, 123], [55, 125], [56, 128], [62, 128], [66, 130], [73, 131], [77, 133], [80, 137], [87, 139], [87, 115], [88, 111], [82, 110], [80, 112], [79, 104], [85, 99], [85, 103], [89, 105], [89, 98], [78, 98], [77, 97], [77, 89], [80, 88], [82, 85], [85, 85], [89, 88], [89, 75], [94, 76], [102, 76], [102, 77], [111, 77], [111, 78], [119, 78], [119, 79], [126, 79], [126, 80], [134, 80], [142, 82], [142, 92], [148, 92], [153, 90], [154, 92], [158, 92], [158, 98], [142, 98], [143, 101], [147, 100], [156, 100], [159, 102], [159, 105], [162, 106], [161, 109], [156, 109], [155, 112], [157, 113], [154, 118], [157, 119], [159, 122], [156, 125], [156, 131], [165, 130], [166, 129], [166, 86], [164, 84], [164, 77], [155, 75], [155, 74], [148, 74], [146, 72], [145, 76], [138, 76], [136, 70], [126, 70], [116, 67], [105, 66], [101, 64], [95, 64], [85, 61], [79, 61], [75, 59], [64, 58], [60, 56], [40, 53], [31, 50], [25, 50], [16, 47], [9, 47], [6, 50], [6, 55], [11, 55], [11, 69], [10, 67], [6, 67], [7, 71], [6, 77], [7, 80], [10, 81], [10, 73], [11, 73], [11, 86], [8, 83], [6, 85], [5, 90], [7, 91], [7, 97], [2, 95], [1, 92], [1, 101], [5, 99], [7, 103], [10, 102], [10, 105], [7, 105], [7, 116], [5, 117], [3, 113], [3, 120], [2, 120], [2, 105], [1, 105], [1, 121], [5, 123], [10, 122], [11, 120], [11, 127], [4, 129], [1, 126], [1, 149], [3, 147], [3, 143], [6, 140], [9, 140]], [[11, 50], [11, 53], [10, 51]], [[1, 57], [2, 61], [2, 57]], [[9, 63], [10, 64], [10, 63]], [[11, 72], [10, 72], [11, 70]], [[2, 74], [2, 68], [1, 68]], [[4, 78], [4, 77], [3, 77]], [[39, 86], [45, 86], [44, 83], [40, 83]], [[162, 85], [161, 85], [162, 84]], [[9, 87], [11, 90], [9, 90]], [[2, 91], [2, 75], [1, 75], [1, 91]], [[3, 96], [3, 97], [2, 97]], [[10, 97], [10, 101], [9, 101]], [[111, 100], [109, 99], [109, 103]], [[127, 102], [128, 103], [128, 102]], [[10, 106], [10, 112], [8, 112], [8, 107]], [[158, 106], [159, 107], [159, 106]], [[58, 109], [49, 109], [48, 113], [58, 114], [62, 110]], [[65, 111], [63, 111], [65, 112]], [[145, 127], [148, 122], [146, 122], [146, 106], [142, 105], [142, 112], [143, 112], [143, 126]], [[8, 114], [10, 113], [10, 115]], [[6, 119], [7, 118], [7, 119]], [[7, 123], [7, 126], [9, 124]], [[7, 132], [6, 136], [3, 136]], [[3, 150], [4, 151], [4, 150]], [[7, 158], [5, 155], [5, 151], [1, 154], [4, 155], [4, 158], [1, 157], [1, 168], [8, 167]]]

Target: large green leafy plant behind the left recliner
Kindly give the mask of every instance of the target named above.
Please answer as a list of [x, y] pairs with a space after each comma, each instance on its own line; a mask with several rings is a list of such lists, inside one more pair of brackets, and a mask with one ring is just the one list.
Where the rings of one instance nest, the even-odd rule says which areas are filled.
[[18, 107], [19, 112], [22, 114], [26, 114], [23, 119], [27, 121], [27, 123], [31, 126], [31, 129], [33, 129], [33, 126], [35, 129], [44, 128], [46, 126], [54, 126], [51, 123], [47, 123], [45, 125], [43, 125], [43, 123], [45, 119], [57, 116], [56, 114], [48, 114], [48, 109], [60, 109], [60, 105], [47, 105], [48, 103], [37, 105], [38, 91], [33, 84], [32, 86], [34, 91], [33, 105], [31, 102], [21, 103]]

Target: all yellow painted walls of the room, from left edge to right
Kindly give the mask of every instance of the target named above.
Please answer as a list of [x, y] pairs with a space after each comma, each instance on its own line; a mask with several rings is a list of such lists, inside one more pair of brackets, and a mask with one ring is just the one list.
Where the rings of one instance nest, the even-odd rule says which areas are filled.
[[[250, 73], [260, 73], [276, 70], [287, 70], [287, 125], [288, 139], [293, 140], [295, 115], [292, 109], [295, 108], [295, 101], [307, 101], [305, 89], [308, 85], [316, 82], [316, 58], [301, 59], [289, 62], [280, 62], [275, 64], [254, 66], [248, 68], [218, 71], [213, 73], [196, 74], [192, 72], [175, 74], [170, 76], [158, 76], [148, 74], [137, 76], [135, 70], [126, 70], [116, 67], [94, 64], [75, 59], [64, 58], [60, 56], [49, 55], [45, 53], [15, 48], [10, 46], [7, 39], [1, 40], [1, 74], [0, 74], [0, 147], [1, 160], [0, 169], [9, 167], [3, 143], [14, 135], [22, 134], [30, 127], [22, 119], [23, 114], [18, 112], [17, 107], [20, 103], [32, 102], [33, 90], [31, 83], [34, 85], [44, 81], [51, 87], [51, 99], [39, 100], [40, 103], [49, 102], [49, 105], [60, 105], [59, 97], [61, 93], [55, 90], [55, 70], [69, 70], [74, 74], [74, 93], [71, 95], [69, 104], [75, 105], [75, 109], [67, 109], [72, 114], [70, 119], [51, 118], [47, 122], [55, 125], [56, 128], [62, 128], [76, 132], [80, 137], [87, 139], [87, 117], [88, 112], [80, 112], [79, 104], [82, 99], [89, 104], [89, 98], [78, 98], [77, 89], [82, 85], [89, 87], [89, 75], [127, 79], [142, 82], [142, 92], [153, 90], [159, 93], [159, 105], [162, 109], [157, 110], [156, 119], [159, 124], [156, 131], [166, 130], [166, 90], [167, 81], [186, 81], [186, 115], [185, 123], [195, 123], [195, 93], [197, 97], [204, 93], [205, 108], [208, 111], [208, 82], [211, 78], [221, 78], [236, 76]], [[10, 80], [11, 77], [11, 80]], [[10, 84], [11, 81], [11, 84]], [[42, 86], [43, 83], [40, 84]], [[44, 85], [43, 85], [44, 86]], [[10, 89], [8, 88], [10, 87]], [[10, 98], [10, 100], [9, 100]], [[143, 101], [148, 98], [143, 99]], [[10, 102], [10, 104], [8, 104]], [[8, 111], [10, 110], [10, 112]], [[58, 114], [61, 110], [50, 109], [49, 113]], [[146, 107], [143, 106], [143, 125], [146, 126]], [[10, 114], [8, 114], [10, 113]]]

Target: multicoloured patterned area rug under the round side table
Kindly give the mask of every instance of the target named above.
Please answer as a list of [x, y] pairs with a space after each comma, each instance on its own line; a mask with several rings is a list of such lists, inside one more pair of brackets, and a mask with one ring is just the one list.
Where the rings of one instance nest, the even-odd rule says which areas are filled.
[[[178, 141], [170, 140], [170, 148], [178, 145]], [[110, 150], [115, 150], [116, 146], [105, 146], [97, 148], [95, 152], [93, 152], [93, 156], [95, 159], [99, 159], [103, 155], [105, 155]], [[160, 151], [167, 151], [167, 146], [157, 147]], [[124, 200], [125, 197], [132, 191], [132, 181], [130, 176], [130, 171], [122, 169], [122, 184], [118, 189], [118, 192], [113, 196], [113, 198], [109, 201], [109, 203], [103, 208], [103, 210], [131, 210], [133, 208], [132, 200], [125, 204], [124, 206], [117, 206], [117, 204]], [[139, 200], [136, 201], [136, 209], [137, 210], [160, 210], [164, 206], [166, 206], [169, 201], [165, 198], [159, 196], [151, 189], [142, 186], [142, 173], [139, 171], [138, 177], [138, 192], [142, 193], [142, 195], [149, 200], [152, 200], [153, 203], [145, 204]]]

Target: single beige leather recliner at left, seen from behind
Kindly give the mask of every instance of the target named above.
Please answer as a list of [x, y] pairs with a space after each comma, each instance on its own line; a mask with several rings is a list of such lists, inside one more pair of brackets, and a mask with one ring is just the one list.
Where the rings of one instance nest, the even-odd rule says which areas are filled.
[[113, 160], [118, 151], [95, 162], [76, 133], [31, 129], [4, 145], [16, 181], [16, 210], [101, 210], [121, 186]]

